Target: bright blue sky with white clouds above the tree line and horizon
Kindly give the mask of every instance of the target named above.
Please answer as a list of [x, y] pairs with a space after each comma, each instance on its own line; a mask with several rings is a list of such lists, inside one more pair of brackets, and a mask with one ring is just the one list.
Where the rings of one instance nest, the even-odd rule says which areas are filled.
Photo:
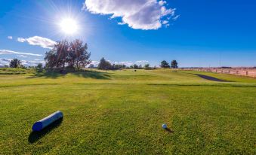
[[[54, 41], [79, 38], [95, 63], [105, 57], [152, 66], [163, 59], [177, 59], [180, 67], [256, 66], [253, 0], [101, 2], [0, 0], [0, 64], [13, 58], [36, 64]], [[60, 31], [66, 17], [79, 25], [76, 34]]]

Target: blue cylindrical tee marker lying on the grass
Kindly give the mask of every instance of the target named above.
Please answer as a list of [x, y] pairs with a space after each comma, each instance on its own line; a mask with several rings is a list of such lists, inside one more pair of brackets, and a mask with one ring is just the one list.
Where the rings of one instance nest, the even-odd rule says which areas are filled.
[[63, 117], [63, 113], [61, 111], [56, 111], [53, 114], [49, 115], [48, 117], [43, 118], [42, 120], [39, 120], [34, 123], [32, 126], [32, 130], [34, 132], [41, 131], [46, 126], [49, 126], [51, 123], [54, 123], [54, 121], [59, 120]]

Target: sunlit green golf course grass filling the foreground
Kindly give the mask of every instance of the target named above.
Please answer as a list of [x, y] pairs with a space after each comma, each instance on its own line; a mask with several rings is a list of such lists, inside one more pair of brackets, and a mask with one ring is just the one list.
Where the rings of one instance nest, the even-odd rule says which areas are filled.
[[[254, 78], [195, 71], [2, 74], [0, 153], [255, 154], [255, 94]], [[61, 123], [31, 133], [57, 110]]]

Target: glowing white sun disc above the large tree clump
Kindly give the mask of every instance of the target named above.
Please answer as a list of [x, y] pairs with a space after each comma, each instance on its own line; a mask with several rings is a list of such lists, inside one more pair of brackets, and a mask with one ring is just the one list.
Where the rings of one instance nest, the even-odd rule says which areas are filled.
[[79, 25], [78, 23], [76, 23], [76, 20], [73, 20], [71, 18], [65, 18], [60, 22], [60, 29], [66, 35], [73, 35], [78, 31]]

